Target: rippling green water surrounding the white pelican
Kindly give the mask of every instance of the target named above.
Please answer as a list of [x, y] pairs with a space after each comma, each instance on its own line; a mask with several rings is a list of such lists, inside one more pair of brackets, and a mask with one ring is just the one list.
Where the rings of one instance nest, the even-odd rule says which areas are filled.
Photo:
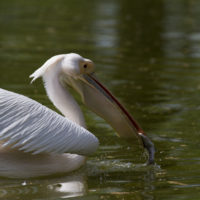
[[53, 108], [29, 75], [55, 54], [92, 59], [98, 78], [155, 143], [137, 147], [83, 108], [98, 151], [75, 173], [0, 179], [0, 199], [200, 199], [200, 2], [0, 1], [0, 87]]

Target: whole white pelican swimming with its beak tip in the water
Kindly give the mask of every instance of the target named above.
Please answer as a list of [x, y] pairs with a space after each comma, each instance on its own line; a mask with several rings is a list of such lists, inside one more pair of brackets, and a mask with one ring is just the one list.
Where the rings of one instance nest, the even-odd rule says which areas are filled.
[[94, 75], [94, 63], [76, 53], [56, 55], [30, 75], [41, 77], [46, 93], [61, 112], [14, 92], [0, 89], [0, 176], [27, 178], [80, 168], [98, 139], [86, 130], [83, 113], [69, 92], [104, 118], [120, 137], [134, 138], [154, 163], [154, 145], [122, 104]]

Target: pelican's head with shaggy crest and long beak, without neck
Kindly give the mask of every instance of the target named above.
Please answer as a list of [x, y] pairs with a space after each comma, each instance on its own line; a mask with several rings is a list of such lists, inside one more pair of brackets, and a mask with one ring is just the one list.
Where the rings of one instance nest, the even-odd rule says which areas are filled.
[[[59, 82], [66, 90], [68, 87], [73, 88], [80, 94], [83, 103], [105, 119], [120, 137], [134, 138], [145, 147], [149, 152], [149, 163], [153, 163], [153, 143], [122, 104], [98, 81], [94, 71], [94, 63], [90, 59], [70, 53], [50, 58], [30, 77], [32, 81], [38, 77], [51, 79], [52, 84]], [[62, 97], [58, 95], [57, 98]]]

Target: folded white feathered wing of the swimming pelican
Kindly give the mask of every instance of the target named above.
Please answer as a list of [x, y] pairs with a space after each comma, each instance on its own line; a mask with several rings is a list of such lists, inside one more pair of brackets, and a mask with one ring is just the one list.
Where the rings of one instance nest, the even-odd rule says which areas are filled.
[[98, 139], [78, 124], [38, 102], [0, 89], [0, 140], [32, 154], [76, 153], [88, 155]]

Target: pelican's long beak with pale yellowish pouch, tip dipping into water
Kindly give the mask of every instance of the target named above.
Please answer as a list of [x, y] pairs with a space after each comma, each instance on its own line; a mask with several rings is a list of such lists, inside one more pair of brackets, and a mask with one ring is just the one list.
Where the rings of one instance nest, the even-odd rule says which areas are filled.
[[[69, 83], [69, 80], [67, 81]], [[134, 138], [149, 152], [149, 163], [154, 163], [154, 145], [139, 124], [122, 104], [103, 86], [94, 74], [71, 79], [70, 85], [81, 95], [83, 103], [105, 119], [120, 137]]]

